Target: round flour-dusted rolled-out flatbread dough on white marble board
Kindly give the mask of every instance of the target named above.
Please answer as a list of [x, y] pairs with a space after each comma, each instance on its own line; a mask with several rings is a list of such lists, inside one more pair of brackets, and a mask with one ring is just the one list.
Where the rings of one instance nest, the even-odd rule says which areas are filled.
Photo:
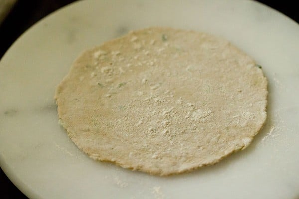
[[85, 51], [55, 99], [91, 158], [171, 175], [245, 149], [266, 120], [267, 80], [222, 38], [148, 28]]

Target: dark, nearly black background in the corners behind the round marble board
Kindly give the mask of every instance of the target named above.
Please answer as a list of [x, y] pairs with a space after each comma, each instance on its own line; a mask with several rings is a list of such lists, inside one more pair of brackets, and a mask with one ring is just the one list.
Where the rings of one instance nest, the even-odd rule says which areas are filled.
[[[75, 0], [18, 0], [0, 25], [0, 59], [12, 43], [30, 26], [44, 16]], [[291, 0], [257, 0], [299, 23], [299, 9]], [[299, 35], [298, 35], [299, 36]], [[0, 169], [0, 199], [27, 199]]]

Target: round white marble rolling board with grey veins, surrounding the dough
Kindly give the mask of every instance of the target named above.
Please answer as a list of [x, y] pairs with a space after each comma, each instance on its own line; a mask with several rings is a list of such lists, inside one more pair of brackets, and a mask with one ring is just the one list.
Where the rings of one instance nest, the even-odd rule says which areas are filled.
[[[116, 1], [115, 1], [116, 2]], [[0, 62], [0, 166], [30, 198], [299, 197], [299, 26], [253, 1], [80, 1], [22, 35]], [[225, 37], [262, 65], [268, 119], [219, 164], [149, 176], [88, 158], [58, 124], [55, 86], [83, 49], [149, 26]]]

